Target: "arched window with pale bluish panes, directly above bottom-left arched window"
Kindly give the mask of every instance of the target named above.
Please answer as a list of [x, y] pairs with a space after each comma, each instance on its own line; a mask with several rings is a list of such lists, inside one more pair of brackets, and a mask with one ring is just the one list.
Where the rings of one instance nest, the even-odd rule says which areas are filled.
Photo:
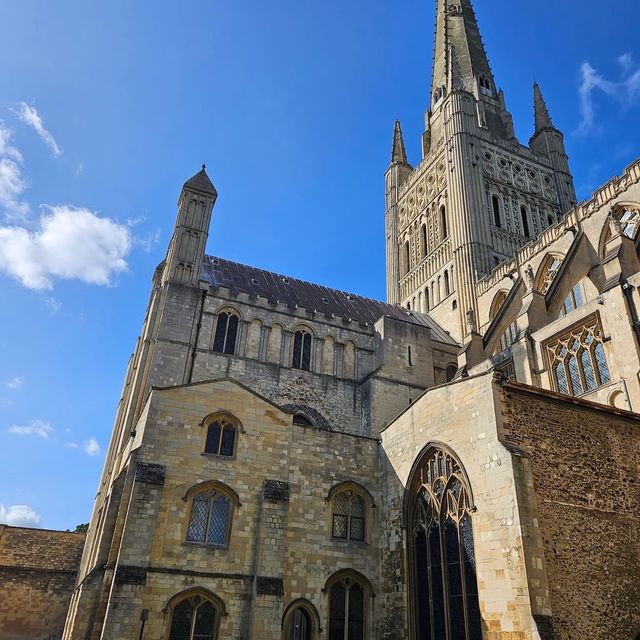
[[232, 497], [217, 484], [208, 484], [191, 499], [187, 542], [217, 547], [229, 543]]

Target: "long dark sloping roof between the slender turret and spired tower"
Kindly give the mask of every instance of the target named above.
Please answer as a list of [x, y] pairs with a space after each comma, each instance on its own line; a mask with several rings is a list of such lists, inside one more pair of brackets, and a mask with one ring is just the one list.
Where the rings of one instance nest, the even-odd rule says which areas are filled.
[[224, 258], [205, 256], [202, 278], [212, 286], [244, 291], [272, 301], [280, 301], [310, 311], [373, 324], [383, 316], [429, 327], [433, 340], [458, 346], [458, 343], [430, 316], [354, 293], [329, 289], [279, 273], [250, 267]]

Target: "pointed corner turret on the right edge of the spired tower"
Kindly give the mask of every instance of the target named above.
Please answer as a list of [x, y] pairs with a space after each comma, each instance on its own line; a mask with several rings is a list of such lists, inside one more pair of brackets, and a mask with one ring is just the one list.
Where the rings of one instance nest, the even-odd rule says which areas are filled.
[[576, 204], [576, 190], [569, 169], [569, 157], [564, 146], [564, 136], [553, 124], [549, 109], [537, 82], [533, 84], [533, 112], [535, 132], [529, 141], [534, 151], [545, 155], [554, 170], [560, 214], [567, 213]]

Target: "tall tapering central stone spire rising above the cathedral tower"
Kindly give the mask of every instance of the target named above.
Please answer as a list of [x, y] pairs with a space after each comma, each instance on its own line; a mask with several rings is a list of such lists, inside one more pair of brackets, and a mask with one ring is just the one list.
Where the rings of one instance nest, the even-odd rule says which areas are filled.
[[460, 77], [466, 87], [478, 81], [495, 93], [493, 73], [480, 36], [471, 0], [437, 0], [436, 36], [433, 53], [432, 106], [434, 96], [447, 86], [451, 48], [455, 49]]

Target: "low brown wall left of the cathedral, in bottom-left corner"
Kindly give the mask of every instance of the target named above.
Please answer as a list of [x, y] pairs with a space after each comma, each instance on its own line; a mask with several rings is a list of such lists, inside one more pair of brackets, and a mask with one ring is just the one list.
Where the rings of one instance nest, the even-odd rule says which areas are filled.
[[82, 533], [0, 525], [0, 638], [59, 640]]

